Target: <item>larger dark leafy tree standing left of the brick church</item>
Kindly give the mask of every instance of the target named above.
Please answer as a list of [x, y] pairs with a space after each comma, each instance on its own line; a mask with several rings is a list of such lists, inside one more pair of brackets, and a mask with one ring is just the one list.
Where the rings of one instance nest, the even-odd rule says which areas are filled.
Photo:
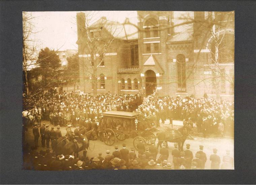
[[48, 47], [41, 49], [37, 59], [39, 74], [42, 76], [42, 87], [46, 87], [56, 82], [59, 77], [58, 69], [61, 60], [54, 50]]

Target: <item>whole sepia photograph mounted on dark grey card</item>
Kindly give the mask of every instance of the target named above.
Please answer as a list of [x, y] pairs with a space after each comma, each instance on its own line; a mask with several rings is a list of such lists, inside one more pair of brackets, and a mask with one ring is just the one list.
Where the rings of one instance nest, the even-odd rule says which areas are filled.
[[23, 11], [22, 170], [234, 170], [234, 17]]

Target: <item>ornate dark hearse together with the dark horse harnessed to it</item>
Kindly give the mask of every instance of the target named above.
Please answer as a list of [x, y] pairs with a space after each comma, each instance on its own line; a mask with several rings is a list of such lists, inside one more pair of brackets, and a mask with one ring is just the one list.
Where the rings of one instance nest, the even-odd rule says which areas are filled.
[[157, 148], [163, 141], [177, 142], [179, 149], [183, 150], [183, 144], [188, 136], [189, 127], [181, 127], [178, 130], [167, 128], [157, 129], [152, 126], [143, 129], [138, 121], [139, 113], [123, 111], [107, 111], [101, 114], [98, 131], [101, 140], [106, 145], [113, 145], [118, 140], [133, 139], [134, 148], [137, 149], [138, 142], [144, 142], [145, 146], [150, 144], [152, 139], [158, 141]]

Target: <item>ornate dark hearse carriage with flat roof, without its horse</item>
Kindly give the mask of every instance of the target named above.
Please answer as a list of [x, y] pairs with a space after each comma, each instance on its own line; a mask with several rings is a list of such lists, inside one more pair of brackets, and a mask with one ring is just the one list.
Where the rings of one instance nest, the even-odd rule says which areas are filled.
[[129, 137], [133, 139], [134, 148], [140, 139], [145, 145], [150, 144], [152, 139], [156, 139], [154, 131], [157, 129], [152, 126], [148, 129], [141, 129], [137, 120], [138, 113], [123, 111], [107, 111], [101, 114], [99, 122], [99, 133], [101, 140], [106, 145], [113, 145], [116, 139], [122, 141]]

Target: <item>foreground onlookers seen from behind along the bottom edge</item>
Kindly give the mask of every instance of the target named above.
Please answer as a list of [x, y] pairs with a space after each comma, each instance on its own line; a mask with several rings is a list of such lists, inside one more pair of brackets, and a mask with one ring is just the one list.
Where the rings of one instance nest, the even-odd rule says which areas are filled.
[[[171, 151], [172, 163], [170, 163], [169, 151], [163, 143], [160, 149], [160, 156], [157, 159], [158, 150], [155, 146], [155, 141], [151, 141], [150, 146], [145, 146], [142, 142], [138, 144], [138, 152], [133, 147], [123, 148], [119, 150], [115, 146], [115, 150], [110, 152], [106, 150], [105, 155], [99, 152], [97, 157], [91, 159], [83, 157], [75, 158], [72, 155], [56, 155], [53, 150], [24, 150], [23, 152], [23, 168], [27, 170], [91, 170], [91, 169], [106, 169], [106, 170], [185, 170], [185, 169], [205, 169], [207, 161], [206, 154], [203, 152], [203, 146], [199, 146], [199, 151], [193, 155], [190, 150], [190, 144], [186, 144], [186, 150], [178, 150], [178, 144], [174, 144], [174, 149]], [[223, 156], [222, 162], [217, 155], [217, 149], [213, 149], [213, 154], [210, 155], [211, 169], [233, 169], [233, 158], [230, 157], [230, 151], [226, 150], [226, 155]], [[222, 164], [221, 164], [222, 163]]]

